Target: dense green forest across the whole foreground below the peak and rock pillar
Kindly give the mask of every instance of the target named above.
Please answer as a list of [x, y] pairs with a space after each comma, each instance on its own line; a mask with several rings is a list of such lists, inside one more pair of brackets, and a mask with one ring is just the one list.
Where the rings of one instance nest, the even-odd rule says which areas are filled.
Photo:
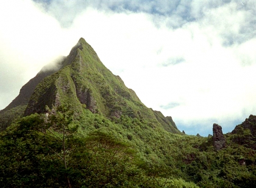
[[[48, 109], [49, 110], [49, 109]], [[255, 150], [233, 142], [115, 122], [65, 107], [23, 117], [0, 137], [3, 187], [255, 187]], [[197, 184], [197, 186], [196, 186]]]

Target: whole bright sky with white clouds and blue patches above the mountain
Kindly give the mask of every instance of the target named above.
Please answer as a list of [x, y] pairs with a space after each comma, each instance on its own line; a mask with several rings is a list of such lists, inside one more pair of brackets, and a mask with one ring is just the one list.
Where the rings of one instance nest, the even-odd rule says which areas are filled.
[[0, 110], [84, 38], [146, 106], [186, 134], [256, 114], [254, 0], [9, 0], [0, 6]]

